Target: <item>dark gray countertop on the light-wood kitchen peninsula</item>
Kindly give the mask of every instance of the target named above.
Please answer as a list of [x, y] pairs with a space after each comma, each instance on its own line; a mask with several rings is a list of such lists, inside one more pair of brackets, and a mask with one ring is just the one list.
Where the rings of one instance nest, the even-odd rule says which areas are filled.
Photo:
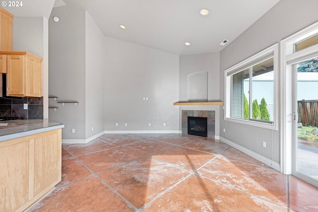
[[49, 119], [16, 119], [1, 121], [1, 123], [8, 123], [8, 125], [0, 126], [0, 141], [64, 127], [64, 124]]

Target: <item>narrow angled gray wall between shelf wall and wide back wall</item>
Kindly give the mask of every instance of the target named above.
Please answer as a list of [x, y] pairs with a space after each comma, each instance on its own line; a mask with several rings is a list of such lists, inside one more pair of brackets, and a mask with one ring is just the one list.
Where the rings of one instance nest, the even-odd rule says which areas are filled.
[[[105, 111], [105, 36], [86, 12], [86, 137], [89, 138], [104, 129]], [[94, 128], [92, 130], [91, 128]]]

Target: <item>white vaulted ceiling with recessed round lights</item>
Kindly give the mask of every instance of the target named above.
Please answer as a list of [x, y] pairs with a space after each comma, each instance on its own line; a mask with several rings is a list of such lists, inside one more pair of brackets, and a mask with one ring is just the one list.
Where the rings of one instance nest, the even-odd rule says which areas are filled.
[[[25, 0], [20, 8], [5, 9], [15, 16], [48, 18], [53, 5], [67, 4], [85, 9], [107, 37], [176, 55], [191, 55], [220, 52], [278, 1]], [[209, 14], [200, 15], [202, 8], [208, 9]], [[229, 42], [220, 46], [225, 39]], [[191, 45], [186, 46], [185, 42]]]

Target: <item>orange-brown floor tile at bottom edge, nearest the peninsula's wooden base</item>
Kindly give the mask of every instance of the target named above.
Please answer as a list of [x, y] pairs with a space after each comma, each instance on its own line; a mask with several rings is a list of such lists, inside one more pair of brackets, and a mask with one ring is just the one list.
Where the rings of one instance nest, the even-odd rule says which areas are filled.
[[54, 190], [28, 212], [133, 212], [96, 177]]

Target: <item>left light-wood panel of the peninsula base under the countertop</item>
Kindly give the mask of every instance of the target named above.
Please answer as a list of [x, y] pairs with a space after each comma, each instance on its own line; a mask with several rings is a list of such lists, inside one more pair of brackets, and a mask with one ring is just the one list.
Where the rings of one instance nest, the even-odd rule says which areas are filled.
[[29, 201], [29, 141], [0, 142], [0, 211], [13, 212]]

